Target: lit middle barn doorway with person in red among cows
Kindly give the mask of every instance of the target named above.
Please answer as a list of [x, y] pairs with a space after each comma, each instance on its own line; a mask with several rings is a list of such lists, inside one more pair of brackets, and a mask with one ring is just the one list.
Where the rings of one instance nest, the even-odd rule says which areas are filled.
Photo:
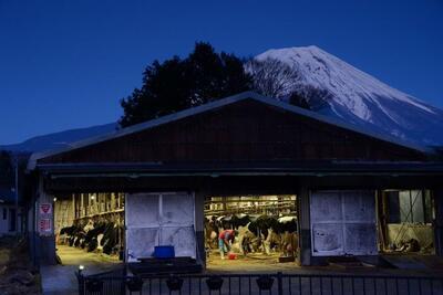
[[206, 197], [206, 266], [216, 272], [293, 268], [298, 228], [295, 194]]

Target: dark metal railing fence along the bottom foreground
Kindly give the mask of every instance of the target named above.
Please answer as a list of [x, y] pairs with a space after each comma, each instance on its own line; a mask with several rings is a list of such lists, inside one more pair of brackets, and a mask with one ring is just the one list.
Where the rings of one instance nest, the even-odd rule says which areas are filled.
[[276, 295], [443, 295], [443, 277], [312, 274], [220, 274], [125, 276], [116, 273], [79, 278], [80, 295], [276, 294]]

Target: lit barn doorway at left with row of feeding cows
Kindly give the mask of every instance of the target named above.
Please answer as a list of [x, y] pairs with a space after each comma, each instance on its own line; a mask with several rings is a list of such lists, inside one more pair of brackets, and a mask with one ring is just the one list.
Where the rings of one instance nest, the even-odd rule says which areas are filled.
[[58, 194], [53, 211], [59, 262], [94, 270], [122, 262], [124, 208], [122, 192]]

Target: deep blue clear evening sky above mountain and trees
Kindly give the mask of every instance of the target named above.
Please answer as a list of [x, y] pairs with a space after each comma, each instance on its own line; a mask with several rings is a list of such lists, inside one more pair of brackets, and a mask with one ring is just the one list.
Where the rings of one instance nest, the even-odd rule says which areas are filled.
[[238, 55], [315, 44], [443, 107], [441, 0], [0, 0], [0, 144], [116, 120], [143, 69], [195, 41]]

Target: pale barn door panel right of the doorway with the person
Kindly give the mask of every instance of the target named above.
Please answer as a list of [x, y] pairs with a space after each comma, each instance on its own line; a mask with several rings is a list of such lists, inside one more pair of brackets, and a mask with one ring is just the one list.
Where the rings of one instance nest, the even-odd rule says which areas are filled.
[[374, 191], [313, 191], [310, 217], [313, 256], [378, 253]]

